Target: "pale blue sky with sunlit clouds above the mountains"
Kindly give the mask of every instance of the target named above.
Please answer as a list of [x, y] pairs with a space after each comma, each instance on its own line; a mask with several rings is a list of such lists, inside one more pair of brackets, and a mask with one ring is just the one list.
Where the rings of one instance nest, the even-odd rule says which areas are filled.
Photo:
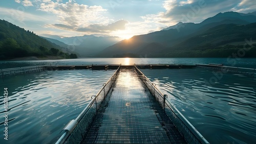
[[37, 35], [130, 38], [201, 22], [219, 12], [256, 11], [255, 0], [1, 0], [0, 19]]

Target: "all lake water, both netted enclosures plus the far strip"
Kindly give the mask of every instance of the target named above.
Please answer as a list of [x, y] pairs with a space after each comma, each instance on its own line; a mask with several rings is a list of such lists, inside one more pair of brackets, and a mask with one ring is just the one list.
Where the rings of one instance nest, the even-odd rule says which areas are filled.
[[[223, 63], [256, 68], [256, 59], [227, 58], [86, 58], [74, 60], [0, 61], [0, 69], [30, 65]], [[224, 74], [215, 84], [205, 80], [212, 70], [142, 69], [168, 95], [210, 143], [256, 143], [256, 80]], [[59, 70], [18, 75], [1, 80], [9, 92], [8, 142], [54, 143], [59, 132], [87, 106], [114, 70]], [[3, 97], [0, 113], [4, 115]], [[0, 128], [4, 130], [4, 117]]]

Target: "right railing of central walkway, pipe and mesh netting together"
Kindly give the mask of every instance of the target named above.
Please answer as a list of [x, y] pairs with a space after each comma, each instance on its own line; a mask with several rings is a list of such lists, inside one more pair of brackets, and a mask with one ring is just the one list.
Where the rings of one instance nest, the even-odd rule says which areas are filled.
[[175, 124], [179, 132], [184, 136], [188, 143], [209, 143], [200, 134], [197, 129], [185, 118], [181, 112], [168, 101], [167, 95], [163, 94], [157, 87], [156, 84], [152, 83], [136, 66], [135, 69], [139, 78], [146, 85], [146, 87], [154, 95], [158, 103], [161, 105], [165, 113]]

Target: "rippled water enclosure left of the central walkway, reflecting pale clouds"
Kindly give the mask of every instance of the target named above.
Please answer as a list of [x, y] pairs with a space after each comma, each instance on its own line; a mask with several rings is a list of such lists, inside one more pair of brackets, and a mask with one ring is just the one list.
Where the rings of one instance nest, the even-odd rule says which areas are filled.
[[[4, 78], [0, 86], [9, 92], [8, 143], [56, 142], [62, 128], [113, 74], [114, 70], [59, 70]], [[0, 101], [3, 113], [3, 97]], [[0, 143], [5, 142], [1, 134]]]

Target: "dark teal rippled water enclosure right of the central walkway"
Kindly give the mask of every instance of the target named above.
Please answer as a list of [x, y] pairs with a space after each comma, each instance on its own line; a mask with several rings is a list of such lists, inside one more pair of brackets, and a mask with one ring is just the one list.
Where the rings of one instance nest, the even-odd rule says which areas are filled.
[[256, 79], [212, 72], [142, 69], [210, 143], [256, 143]]

